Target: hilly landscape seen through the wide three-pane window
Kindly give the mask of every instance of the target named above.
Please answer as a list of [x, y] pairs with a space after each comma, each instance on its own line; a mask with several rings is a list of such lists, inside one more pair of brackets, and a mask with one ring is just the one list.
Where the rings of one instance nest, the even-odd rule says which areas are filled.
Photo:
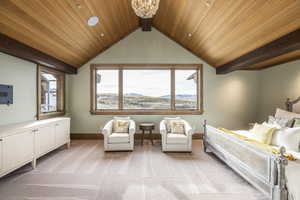
[[[196, 95], [176, 95], [177, 109], [195, 109], [197, 102]], [[97, 107], [99, 109], [112, 109], [118, 105], [117, 94], [104, 93], [97, 96]], [[144, 96], [138, 93], [124, 94], [124, 109], [170, 109], [171, 96], [160, 97]]]

